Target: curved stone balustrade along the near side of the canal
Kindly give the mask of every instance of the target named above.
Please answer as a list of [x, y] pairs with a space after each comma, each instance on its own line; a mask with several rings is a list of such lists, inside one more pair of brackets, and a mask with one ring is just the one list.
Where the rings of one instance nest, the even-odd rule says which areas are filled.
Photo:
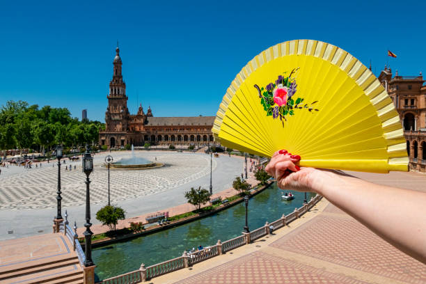
[[[267, 235], [270, 232], [270, 226], [272, 226], [273, 230], [286, 226], [291, 221], [298, 219], [301, 215], [308, 212], [308, 210], [310, 210], [316, 203], [318, 203], [321, 198], [322, 196], [317, 195], [314, 198], [311, 198], [307, 204], [301, 206], [299, 209], [296, 208], [294, 212], [285, 216], [283, 215], [280, 219], [273, 221], [270, 224], [266, 223], [265, 226], [253, 230], [247, 233], [246, 235], [241, 235], [233, 239], [229, 239], [228, 241], [223, 243], [221, 243], [219, 240], [216, 245], [204, 248], [203, 250], [196, 251], [194, 253], [187, 253], [185, 251], [184, 254], [179, 258], [173, 258], [172, 260], [167, 260], [165, 262], [158, 263], [157, 265], [151, 265], [150, 267], [145, 268], [145, 265], [142, 264], [139, 270], [131, 271], [129, 273], [122, 274], [119, 276], [114, 276], [105, 279], [97, 284], [141, 283], [148, 281], [152, 278], [168, 274], [172, 271], [187, 268], [198, 262], [202, 262], [203, 260], [214, 258], [216, 255], [221, 255], [222, 253], [226, 253], [227, 251], [230, 251], [239, 246], [244, 246], [244, 244], [247, 244], [247, 237], [249, 242], [253, 242], [255, 239], [259, 239], [260, 237]], [[76, 252], [77, 255], [79, 255], [80, 263], [83, 263], [84, 253], [81, 250], [81, 246], [78, 243], [78, 239], [75, 239], [75, 242], [76, 244], [78, 244]], [[79, 251], [81, 251], [81, 253], [79, 253]]]

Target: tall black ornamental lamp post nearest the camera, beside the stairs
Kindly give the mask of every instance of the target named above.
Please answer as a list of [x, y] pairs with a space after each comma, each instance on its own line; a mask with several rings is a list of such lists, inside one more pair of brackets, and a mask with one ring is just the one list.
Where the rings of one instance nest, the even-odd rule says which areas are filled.
[[86, 152], [83, 157], [83, 171], [86, 173], [86, 223], [84, 226], [86, 227], [86, 231], [84, 231], [83, 235], [85, 237], [85, 255], [86, 260], [84, 260], [84, 266], [90, 267], [93, 266], [92, 260], [92, 235], [93, 232], [90, 230], [90, 189], [89, 189], [89, 175], [93, 171], [93, 157], [90, 155], [88, 151], [88, 145], [86, 145]]

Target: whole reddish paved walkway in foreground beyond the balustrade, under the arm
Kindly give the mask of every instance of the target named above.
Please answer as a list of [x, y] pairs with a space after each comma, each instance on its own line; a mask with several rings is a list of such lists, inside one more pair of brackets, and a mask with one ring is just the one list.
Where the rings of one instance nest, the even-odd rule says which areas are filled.
[[[418, 173], [355, 173], [426, 192]], [[426, 242], [425, 242], [426, 243]], [[327, 200], [274, 235], [149, 283], [426, 283], [426, 265], [398, 251]]]

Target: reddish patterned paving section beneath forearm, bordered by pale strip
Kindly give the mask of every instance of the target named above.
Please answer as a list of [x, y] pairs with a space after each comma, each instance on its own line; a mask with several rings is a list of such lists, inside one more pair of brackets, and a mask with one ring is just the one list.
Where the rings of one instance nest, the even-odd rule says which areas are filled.
[[[339, 212], [329, 205], [324, 212]], [[425, 283], [425, 265], [398, 251], [355, 219], [320, 215], [270, 244], [406, 283]]]

